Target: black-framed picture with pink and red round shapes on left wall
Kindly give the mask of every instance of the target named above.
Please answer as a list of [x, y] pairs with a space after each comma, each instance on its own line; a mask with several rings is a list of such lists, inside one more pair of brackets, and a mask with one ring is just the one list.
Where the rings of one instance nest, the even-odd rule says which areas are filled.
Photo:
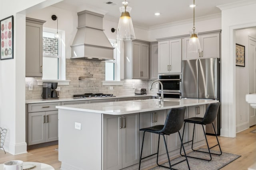
[[0, 60], [13, 59], [13, 16], [0, 20]]

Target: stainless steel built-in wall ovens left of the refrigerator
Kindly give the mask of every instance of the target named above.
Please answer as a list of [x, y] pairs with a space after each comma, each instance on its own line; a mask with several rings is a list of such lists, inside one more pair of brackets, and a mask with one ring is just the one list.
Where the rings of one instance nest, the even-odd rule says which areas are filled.
[[164, 98], [181, 98], [181, 74], [159, 74], [158, 80], [163, 84], [163, 89], [159, 86], [159, 96], [163, 91]]

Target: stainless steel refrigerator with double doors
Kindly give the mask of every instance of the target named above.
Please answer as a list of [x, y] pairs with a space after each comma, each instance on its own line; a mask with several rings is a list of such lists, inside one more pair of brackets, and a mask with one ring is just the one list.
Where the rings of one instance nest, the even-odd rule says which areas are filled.
[[[183, 60], [181, 82], [182, 98], [220, 100], [220, 60]], [[214, 127], [220, 135], [220, 109]], [[214, 134], [212, 125], [206, 125], [206, 134]]]

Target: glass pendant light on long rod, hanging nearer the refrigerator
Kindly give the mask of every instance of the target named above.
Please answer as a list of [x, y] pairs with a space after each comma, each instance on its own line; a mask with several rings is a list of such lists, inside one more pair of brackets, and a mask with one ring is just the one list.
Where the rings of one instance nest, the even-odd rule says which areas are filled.
[[188, 43], [188, 52], [189, 53], [201, 53], [201, 46], [197, 36], [197, 32], [195, 31], [195, 0], [194, 0], [194, 18], [193, 18], [193, 29], [189, 31], [190, 39]]

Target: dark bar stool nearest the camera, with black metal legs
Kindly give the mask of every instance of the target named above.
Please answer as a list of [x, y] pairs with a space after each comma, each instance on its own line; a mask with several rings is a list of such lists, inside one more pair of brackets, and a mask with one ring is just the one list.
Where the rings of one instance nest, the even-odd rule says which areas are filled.
[[[168, 112], [168, 115], [167, 115], [167, 118], [166, 118], [166, 121], [165, 121], [164, 125], [156, 125], [156, 126], [140, 129], [140, 131], [144, 131], [143, 139], [142, 139], [141, 153], [140, 153], [140, 163], [141, 163], [142, 159], [148, 158], [149, 156], [157, 154], [156, 163], [157, 163], [158, 166], [162, 166], [162, 165], [158, 164], [159, 139], [160, 139], [160, 135], [162, 135], [163, 138], [164, 138], [164, 145], [165, 145], [165, 148], [166, 148], [166, 154], [167, 154], [168, 161], [169, 161], [169, 166], [170, 166], [170, 167], [167, 167], [167, 166], [162, 166], [162, 167], [170, 168], [172, 170], [173, 169], [172, 166], [174, 166], [176, 164], [179, 164], [181, 162], [184, 162], [185, 160], [187, 161], [187, 164], [188, 164], [188, 159], [186, 157], [185, 149], [184, 149], [182, 139], [181, 139], [181, 136], [180, 136], [180, 132], [179, 132], [179, 130], [182, 128], [182, 125], [183, 125], [185, 111], [186, 111], [185, 106], [184, 107], [178, 107], [178, 108], [172, 108]], [[151, 154], [149, 156], [146, 156], [146, 157], [142, 158], [142, 149], [143, 149], [145, 132], [158, 134], [158, 148], [157, 148], [157, 153]], [[177, 163], [171, 165], [164, 135], [170, 135], [170, 134], [176, 133], [176, 132], [179, 133], [181, 146], [182, 146], [183, 151], [185, 153], [186, 159], [181, 160], [180, 162], [177, 162]], [[188, 169], [190, 170], [189, 164], [188, 164]], [[139, 170], [140, 170], [140, 165], [139, 165]], [[175, 169], [173, 169], [173, 170], [175, 170]]]

